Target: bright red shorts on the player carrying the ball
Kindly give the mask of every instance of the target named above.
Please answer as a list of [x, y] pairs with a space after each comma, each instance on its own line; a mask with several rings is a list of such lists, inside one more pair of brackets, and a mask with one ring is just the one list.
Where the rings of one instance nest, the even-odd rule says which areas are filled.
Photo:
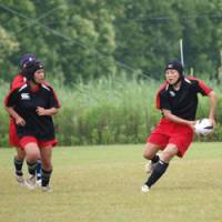
[[194, 132], [189, 125], [162, 118], [147, 142], [157, 144], [161, 150], [164, 150], [169, 143], [172, 143], [179, 150], [178, 157], [182, 158], [193, 141], [193, 134]]

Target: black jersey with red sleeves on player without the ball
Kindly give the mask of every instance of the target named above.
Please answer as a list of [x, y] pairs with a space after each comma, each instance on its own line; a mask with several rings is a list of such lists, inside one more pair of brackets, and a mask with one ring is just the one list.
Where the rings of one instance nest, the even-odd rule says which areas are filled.
[[41, 141], [54, 139], [54, 125], [50, 115], [38, 115], [37, 108], [44, 109], [59, 108], [60, 103], [53, 89], [48, 84], [40, 84], [36, 91], [24, 83], [17, 89], [12, 89], [7, 95], [4, 103], [13, 107], [21, 115], [26, 125], [17, 125], [19, 138], [32, 135]]

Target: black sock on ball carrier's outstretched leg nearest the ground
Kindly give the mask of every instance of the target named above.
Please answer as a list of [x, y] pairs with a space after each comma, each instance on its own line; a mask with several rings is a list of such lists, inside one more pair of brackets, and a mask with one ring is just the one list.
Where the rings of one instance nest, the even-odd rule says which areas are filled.
[[168, 169], [169, 163], [163, 162], [162, 160], [160, 160], [157, 164], [157, 167], [154, 168], [152, 174], [150, 175], [150, 178], [148, 179], [148, 181], [145, 182], [145, 184], [151, 188], [161, 176], [162, 174], [165, 172], [165, 170]]

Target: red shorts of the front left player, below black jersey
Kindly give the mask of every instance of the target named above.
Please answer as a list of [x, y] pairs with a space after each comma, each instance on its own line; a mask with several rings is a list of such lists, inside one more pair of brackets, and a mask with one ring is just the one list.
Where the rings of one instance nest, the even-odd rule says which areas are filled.
[[58, 144], [57, 139], [52, 139], [52, 140], [48, 140], [48, 141], [41, 141], [41, 140], [38, 140], [34, 137], [30, 137], [30, 135], [29, 137], [22, 137], [19, 140], [19, 143], [21, 144], [22, 149], [24, 149], [24, 147], [30, 142], [37, 143], [40, 149], [51, 148], [51, 147], [56, 147]]

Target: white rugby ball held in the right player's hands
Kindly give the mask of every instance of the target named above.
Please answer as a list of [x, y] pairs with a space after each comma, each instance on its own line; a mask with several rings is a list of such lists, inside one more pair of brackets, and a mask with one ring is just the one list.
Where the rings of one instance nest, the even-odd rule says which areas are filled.
[[213, 132], [213, 124], [210, 119], [204, 118], [195, 122], [194, 130], [199, 135], [208, 135]]

